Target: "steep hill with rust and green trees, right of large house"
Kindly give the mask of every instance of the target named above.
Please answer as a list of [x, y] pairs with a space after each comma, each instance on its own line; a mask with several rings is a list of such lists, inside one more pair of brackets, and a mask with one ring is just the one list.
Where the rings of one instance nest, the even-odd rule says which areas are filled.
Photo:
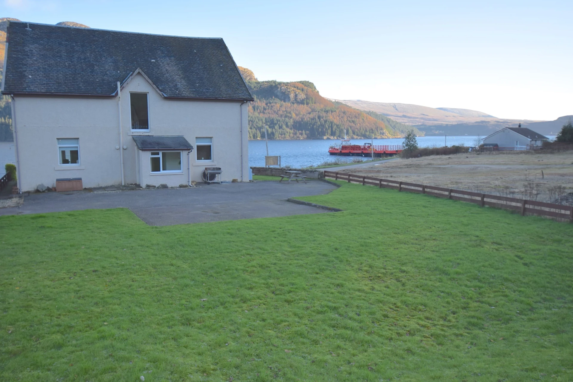
[[358, 109], [333, 103], [319, 94], [309, 81], [258, 81], [253, 72], [241, 74], [254, 97], [249, 105], [249, 138], [323, 139], [340, 138], [344, 130], [351, 138], [403, 136]]

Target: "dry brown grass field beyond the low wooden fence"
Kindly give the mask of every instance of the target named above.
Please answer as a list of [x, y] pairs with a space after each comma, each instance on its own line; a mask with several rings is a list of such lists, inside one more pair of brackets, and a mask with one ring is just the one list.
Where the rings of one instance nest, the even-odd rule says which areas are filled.
[[339, 172], [573, 204], [573, 151], [465, 153], [395, 159]]

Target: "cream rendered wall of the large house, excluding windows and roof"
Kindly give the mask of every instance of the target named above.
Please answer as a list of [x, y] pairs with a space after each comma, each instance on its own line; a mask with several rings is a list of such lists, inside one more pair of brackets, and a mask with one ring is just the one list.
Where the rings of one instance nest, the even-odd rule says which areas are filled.
[[[149, 94], [149, 132], [132, 131], [129, 92]], [[55, 186], [57, 178], [82, 178], [88, 188], [121, 183], [117, 97], [15, 96], [15, 103], [23, 191], [40, 183]], [[187, 151], [182, 152], [183, 174], [152, 175], [149, 152], [136, 148], [134, 135], [182, 135], [194, 147], [196, 137], [212, 137], [213, 160], [197, 161], [195, 149], [190, 154], [191, 180], [201, 180], [205, 167], [216, 166], [223, 181], [241, 175], [248, 181], [247, 124], [246, 103], [167, 99], [137, 74], [121, 89], [125, 183], [176, 187], [189, 176]], [[59, 164], [58, 138], [79, 139], [79, 166]]]

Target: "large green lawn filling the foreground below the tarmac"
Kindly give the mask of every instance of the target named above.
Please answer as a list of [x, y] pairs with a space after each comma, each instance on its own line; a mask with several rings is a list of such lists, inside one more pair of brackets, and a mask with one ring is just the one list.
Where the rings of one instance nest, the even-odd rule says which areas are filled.
[[304, 200], [344, 211], [0, 217], [0, 380], [573, 380], [573, 225], [358, 184]]

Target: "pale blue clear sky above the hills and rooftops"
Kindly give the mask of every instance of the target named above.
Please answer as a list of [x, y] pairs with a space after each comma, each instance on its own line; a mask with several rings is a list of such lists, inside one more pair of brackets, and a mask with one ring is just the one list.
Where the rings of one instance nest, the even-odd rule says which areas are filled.
[[0, 0], [0, 17], [222, 37], [259, 80], [336, 99], [573, 114], [572, 1]]

